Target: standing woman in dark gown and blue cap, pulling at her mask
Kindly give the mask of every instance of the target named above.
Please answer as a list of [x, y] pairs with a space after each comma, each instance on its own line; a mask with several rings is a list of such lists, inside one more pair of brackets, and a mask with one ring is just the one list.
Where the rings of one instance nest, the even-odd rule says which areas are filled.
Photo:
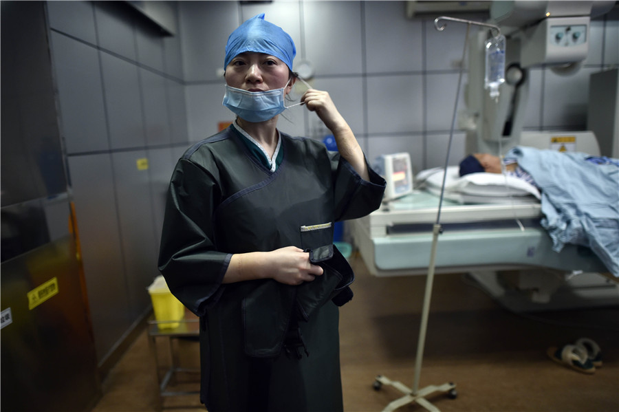
[[228, 129], [177, 162], [159, 268], [200, 317], [201, 400], [208, 411], [342, 411], [338, 307], [354, 274], [334, 222], [380, 206], [372, 171], [326, 91], [301, 103], [338, 152], [277, 129], [297, 80], [290, 36], [259, 14], [230, 34]]

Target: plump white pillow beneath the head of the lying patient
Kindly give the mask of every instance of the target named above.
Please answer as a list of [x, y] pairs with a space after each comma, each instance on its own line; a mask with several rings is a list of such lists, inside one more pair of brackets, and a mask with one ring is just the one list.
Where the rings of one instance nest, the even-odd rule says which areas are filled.
[[[443, 168], [421, 171], [417, 174], [417, 182], [423, 181], [426, 182], [428, 188], [434, 189], [433, 191], [440, 190], [443, 184]], [[501, 173], [470, 173], [460, 177], [459, 166], [448, 166], [445, 191], [486, 197], [533, 195], [537, 199], [541, 198], [535, 186], [518, 177]]]

